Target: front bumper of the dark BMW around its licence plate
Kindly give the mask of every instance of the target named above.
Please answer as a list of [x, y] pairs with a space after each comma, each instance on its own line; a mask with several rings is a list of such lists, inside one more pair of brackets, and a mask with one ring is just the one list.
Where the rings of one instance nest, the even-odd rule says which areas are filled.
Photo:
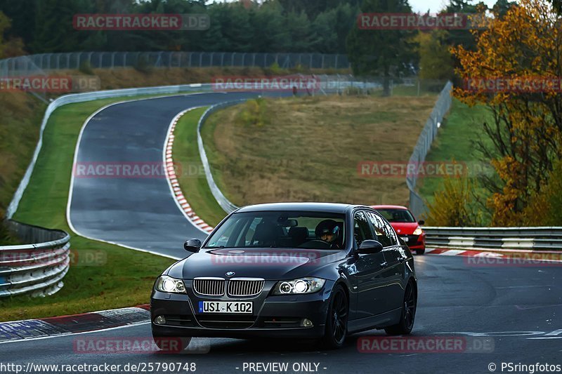
[[[308, 295], [270, 295], [275, 281], [266, 281], [263, 291], [255, 297], [231, 298], [201, 296], [185, 281], [187, 295], [153, 291], [150, 298], [152, 335], [157, 337], [207, 338], [320, 338], [324, 335], [330, 290], [333, 281], [326, 281], [318, 293]], [[200, 301], [251, 301], [252, 314], [203, 314]], [[165, 324], [155, 323], [164, 316]], [[312, 327], [302, 326], [303, 319]]]

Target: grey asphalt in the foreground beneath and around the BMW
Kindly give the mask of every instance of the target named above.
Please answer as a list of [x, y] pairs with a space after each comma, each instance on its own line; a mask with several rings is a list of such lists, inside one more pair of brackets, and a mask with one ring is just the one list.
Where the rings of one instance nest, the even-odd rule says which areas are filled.
[[[313, 343], [205, 339], [207, 354], [80, 354], [76, 339], [150, 338], [150, 325], [0, 345], [12, 363], [121, 364], [194, 362], [197, 373], [250, 373], [244, 363], [318, 363], [320, 373], [490, 373], [504, 363], [562, 363], [562, 268], [477, 267], [466, 258], [417, 256], [419, 303], [413, 335], [477, 337], [488, 353], [359, 353], [357, 340], [384, 336], [378, 330], [351, 335], [344, 349], [319, 352]], [[549, 335], [547, 335], [549, 334]], [[5, 362], [6, 362], [5, 361]], [[312, 366], [315, 367], [314, 365]], [[238, 369], [237, 369], [238, 368]], [[161, 370], [162, 372], [162, 370]], [[185, 371], [182, 371], [185, 373]], [[303, 372], [303, 371], [299, 371]], [[504, 369], [504, 373], [507, 370]]]

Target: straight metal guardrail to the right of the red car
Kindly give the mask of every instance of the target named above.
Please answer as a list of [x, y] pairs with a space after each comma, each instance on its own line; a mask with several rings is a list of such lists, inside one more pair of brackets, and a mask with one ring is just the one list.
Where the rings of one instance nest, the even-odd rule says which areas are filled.
[[562, 251], [562, 227], [424, 227], [426, 245]]

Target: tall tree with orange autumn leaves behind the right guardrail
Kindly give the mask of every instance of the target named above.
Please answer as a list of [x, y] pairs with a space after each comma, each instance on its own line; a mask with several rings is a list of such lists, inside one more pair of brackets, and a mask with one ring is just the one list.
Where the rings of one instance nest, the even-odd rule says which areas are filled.
[[492, 112], [493, 121], [483, 123], [492, 146], [478, 145], [497, 171], [483, 180], [492, 192], [492, 225], [521, 225], [531, 197], [561, 158], [562, 96], [556, 79], [562, 78], [562, 18], [544, 1], [521, 0], [502, 17], [480, 19], [481, 29], [473, 30], [476, 50], [451, 48], [461, 66], [456, 73], [465, 82], [454, 95]]

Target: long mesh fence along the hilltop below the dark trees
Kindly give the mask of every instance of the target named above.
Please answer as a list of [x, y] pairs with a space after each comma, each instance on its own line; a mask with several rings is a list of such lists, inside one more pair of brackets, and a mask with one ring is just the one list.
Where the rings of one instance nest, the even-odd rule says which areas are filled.
[[35, 69], [115, 69], [119, 67], [271, 67], [348, 69], [346, 55], [238, 52], [72, 52], [19, 56], [0, 61], [2, 76], [33, 74]]

